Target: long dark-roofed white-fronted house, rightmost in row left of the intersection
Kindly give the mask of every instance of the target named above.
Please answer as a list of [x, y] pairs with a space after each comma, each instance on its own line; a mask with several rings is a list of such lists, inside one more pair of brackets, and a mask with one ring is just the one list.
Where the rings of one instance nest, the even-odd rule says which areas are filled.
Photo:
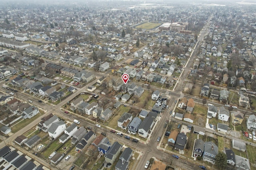
[[144, 138], [148, 137], [153, 125], [154, 125], [154, 118], [146, 117], [140, 124], [140, 127], [138, 128], [139, 136]]

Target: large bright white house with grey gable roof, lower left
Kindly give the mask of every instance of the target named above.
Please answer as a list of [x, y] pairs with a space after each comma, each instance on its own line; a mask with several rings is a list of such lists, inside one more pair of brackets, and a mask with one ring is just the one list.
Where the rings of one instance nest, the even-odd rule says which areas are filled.
[[64, 123], [64, 121], [62, 120], [57, 121], [52, 123], [52, 125], [49, 127], [48, 134], [50, 137], [55, 139], [58, 136], [60, 136], [60, 134], [64, 132], [65, 129], [66, 129], [66, 124]]

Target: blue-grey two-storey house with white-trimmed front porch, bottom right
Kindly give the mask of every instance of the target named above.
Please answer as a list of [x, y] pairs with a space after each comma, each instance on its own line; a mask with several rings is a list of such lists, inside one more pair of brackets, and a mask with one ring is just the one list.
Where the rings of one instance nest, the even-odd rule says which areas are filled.
[[213, 142], [204, 143], [203, 160], [215, 164], [216, 156], [218, 154], [218, 147]]

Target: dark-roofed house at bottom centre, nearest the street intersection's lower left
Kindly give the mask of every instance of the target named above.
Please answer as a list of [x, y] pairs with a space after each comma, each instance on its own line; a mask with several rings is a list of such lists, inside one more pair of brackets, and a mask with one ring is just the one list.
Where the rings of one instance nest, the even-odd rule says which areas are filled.
[[115, 166], [116, 170], [126, 170], [129, 165], [130, 158], [132, 157], [132, 149], [127, 147], [124, 149], [119, 157], [119, 160]]

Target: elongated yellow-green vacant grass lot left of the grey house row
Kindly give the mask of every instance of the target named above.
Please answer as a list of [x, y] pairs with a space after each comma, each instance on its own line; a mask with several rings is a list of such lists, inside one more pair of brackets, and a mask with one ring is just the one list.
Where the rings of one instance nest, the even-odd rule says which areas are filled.
[[124, 112], [127, 112], [130, 110], [130, 107], [126, 106], [124, 107], [123, 105], [121, 105], [120, 107], [118, 107], [118, 109], [116, 109], [111, 117], [111, 120], [108, 122], [108, 126], [116, 129], [117, 128], [117, 121], [118, 119], [123, 115]]

